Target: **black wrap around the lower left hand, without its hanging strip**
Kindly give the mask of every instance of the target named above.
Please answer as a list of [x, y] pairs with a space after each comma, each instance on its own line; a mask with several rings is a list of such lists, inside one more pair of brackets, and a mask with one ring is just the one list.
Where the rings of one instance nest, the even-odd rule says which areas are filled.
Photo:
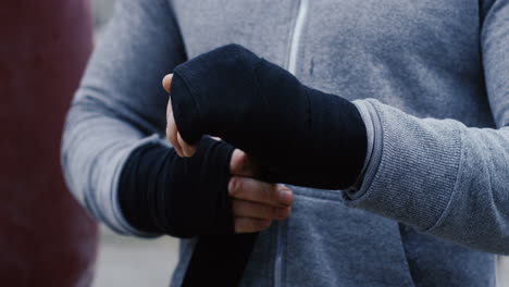
[[227, 192], [233, 150], [209, 137], [191, 158], [156, 144], [135, 150], [119, 187], [126, 221], [146, 233], [177, 237], [233, 234]]

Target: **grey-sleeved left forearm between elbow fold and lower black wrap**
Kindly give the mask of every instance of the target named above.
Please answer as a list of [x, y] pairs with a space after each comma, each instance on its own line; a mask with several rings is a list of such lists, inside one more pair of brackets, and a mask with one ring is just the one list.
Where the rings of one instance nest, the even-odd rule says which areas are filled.
[[95, 101], [75, 102], [62, 140], [62, 170], [74, 197], [98, 221], [121, 234], [146, 236], [132, 227], [116, 199], [122, 169], [139, 146], [158, 142]]

